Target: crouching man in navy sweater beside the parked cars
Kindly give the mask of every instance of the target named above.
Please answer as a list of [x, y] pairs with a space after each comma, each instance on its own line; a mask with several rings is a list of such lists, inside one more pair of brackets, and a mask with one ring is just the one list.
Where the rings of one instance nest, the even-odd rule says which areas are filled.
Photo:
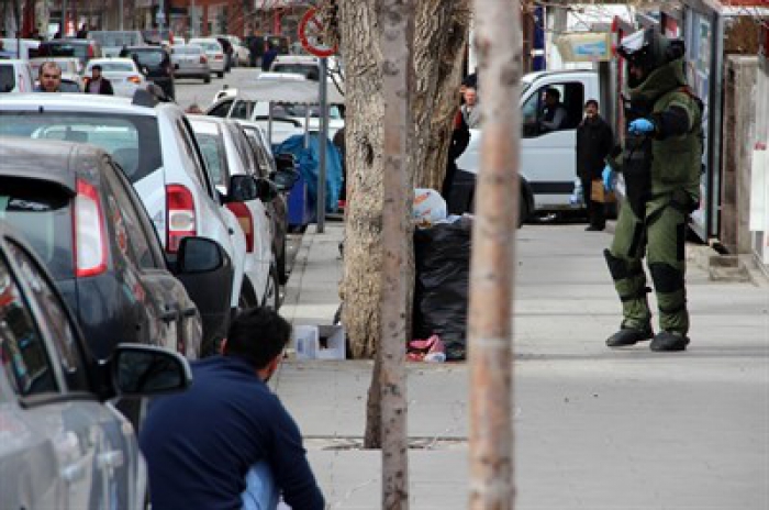
[[192, 364], [193, 385], [158, 398], [140, 434], [154, 510], [321, 510], [299, 428], [267, 380], [291, 336], [277, 312], [242, 312], [222, 355]]

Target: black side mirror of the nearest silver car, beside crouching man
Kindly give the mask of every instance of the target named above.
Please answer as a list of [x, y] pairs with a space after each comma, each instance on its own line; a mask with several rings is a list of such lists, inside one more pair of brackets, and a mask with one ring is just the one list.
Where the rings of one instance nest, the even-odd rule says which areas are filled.
[[110, 359], [118, 396], [144, 397], [183, 391], [192, 382], [190, 365], [179, 353], [142, 344], [119, 344]]

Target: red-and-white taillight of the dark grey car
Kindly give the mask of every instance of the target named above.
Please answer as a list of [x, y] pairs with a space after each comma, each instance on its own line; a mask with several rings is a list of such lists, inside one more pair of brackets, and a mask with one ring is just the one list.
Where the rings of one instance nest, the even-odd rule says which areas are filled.
[[96, 188], [78, 179], [75, 197], [75, 273], [80, 277], [107, 270], [107, 232]]

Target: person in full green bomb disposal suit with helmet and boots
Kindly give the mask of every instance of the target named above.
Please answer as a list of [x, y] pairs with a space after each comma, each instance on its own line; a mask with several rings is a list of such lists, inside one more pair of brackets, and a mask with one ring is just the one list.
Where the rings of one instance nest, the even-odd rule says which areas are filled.
[[[682, 43], [647, 29], [623, 38], [618, 53], [627, 62], [627, 131], [624, 147], [608, 158], [603, 180], [611, 190], [614, 173], [621, 171], [627, 193], [604, 255], [624, 318], [606, 345], [654, 339], [653, 351], [683, 351], [689, 343], [684, 240], [700, 200], [702, 102], [687, 85]], [[644, 256], [659, 307], [657, 335]]]

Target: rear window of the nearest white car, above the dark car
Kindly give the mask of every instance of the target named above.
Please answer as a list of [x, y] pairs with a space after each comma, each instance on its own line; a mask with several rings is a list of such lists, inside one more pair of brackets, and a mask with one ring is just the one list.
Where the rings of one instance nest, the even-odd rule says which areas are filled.
[[112, 155], [132, 184], [163, 166], [154, 117], [36, 109], [2, 111], [0, 136], [3, 135], [93, 144]]

